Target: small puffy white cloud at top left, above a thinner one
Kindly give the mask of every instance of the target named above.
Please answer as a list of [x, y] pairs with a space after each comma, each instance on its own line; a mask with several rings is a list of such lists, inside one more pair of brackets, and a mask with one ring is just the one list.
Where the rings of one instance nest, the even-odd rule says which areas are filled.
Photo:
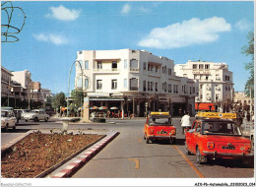
[[81, 10], [67, 9], [60, 5], [59, 7], [50, 7], [51, 13], [46, 15], [48, 18], [54, 18], [61, 21], [74, 21], [79, 18]]

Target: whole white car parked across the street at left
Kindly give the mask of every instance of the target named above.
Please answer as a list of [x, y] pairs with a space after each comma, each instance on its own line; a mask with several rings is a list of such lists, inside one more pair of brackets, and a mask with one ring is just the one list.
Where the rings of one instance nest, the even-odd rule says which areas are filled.
[[26, 121], [33, 120], [34, 122], [39, 120], [44, 120], [46, 122], [49, 119], [49, 115], [42, 109], [33, 109], [31, 112], [25, 113], [23, 117]]

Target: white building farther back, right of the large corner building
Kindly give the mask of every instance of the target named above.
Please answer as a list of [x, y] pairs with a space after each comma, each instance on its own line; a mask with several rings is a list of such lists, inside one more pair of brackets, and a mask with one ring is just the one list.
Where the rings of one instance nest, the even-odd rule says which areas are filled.
[[174, 71], [178, 76], [199, 81], [196, 102], [214, 102], [228, 110], [233, 100], [233, 78], [225, 63], [188, 61], [175, 65]]

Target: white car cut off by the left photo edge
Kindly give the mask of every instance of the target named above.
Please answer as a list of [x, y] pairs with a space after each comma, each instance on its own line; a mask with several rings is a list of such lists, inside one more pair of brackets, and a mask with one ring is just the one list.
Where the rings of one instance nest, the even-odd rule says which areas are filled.
[[1, 129], [8, 131], [9, 128], [16, 129], [16, 117], [12, 110], [1, 110]]

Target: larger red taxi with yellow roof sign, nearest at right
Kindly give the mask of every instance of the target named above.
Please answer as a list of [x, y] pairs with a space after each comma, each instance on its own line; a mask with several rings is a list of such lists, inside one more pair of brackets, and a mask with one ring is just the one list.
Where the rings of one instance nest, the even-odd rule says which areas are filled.
[[235, 121], [235, 113], [198, 112], [192, 128], [186, 131], [186, 154], [194, 154], [198, 163], [208, 159], [240, 159], [248, 163], [251, 141], [242, 137]]

